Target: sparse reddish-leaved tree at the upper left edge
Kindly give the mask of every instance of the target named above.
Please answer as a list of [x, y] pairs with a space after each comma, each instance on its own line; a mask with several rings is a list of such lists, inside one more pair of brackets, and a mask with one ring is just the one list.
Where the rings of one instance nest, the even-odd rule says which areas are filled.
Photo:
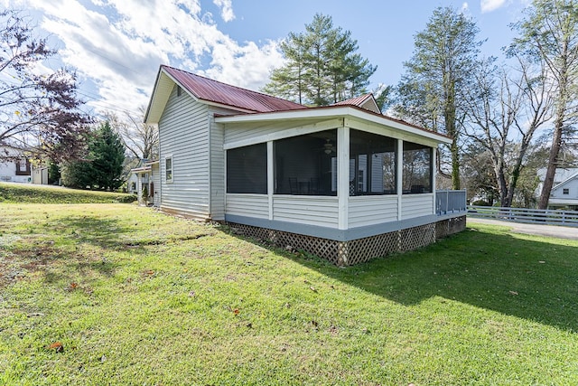
[[90, 118], [79, 111], [74, 71], [41, 69], [55, 53], [21, 12], [0, 13], [0, 147], [55, 161], [81, 154]]

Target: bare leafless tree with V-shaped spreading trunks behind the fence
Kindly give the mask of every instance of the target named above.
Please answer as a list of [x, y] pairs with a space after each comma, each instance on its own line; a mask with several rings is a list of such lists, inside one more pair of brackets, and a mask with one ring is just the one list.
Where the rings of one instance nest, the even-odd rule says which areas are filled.
[[468, 99], [468, 136], [485, 148], [498, 184], [501, 206], [511, 206], [527, 152], [538, 128], [552, 118], [552, 85], [545, 66], [517, 59], [507, 71], [491, 61], [476, 75], [479, 92]]

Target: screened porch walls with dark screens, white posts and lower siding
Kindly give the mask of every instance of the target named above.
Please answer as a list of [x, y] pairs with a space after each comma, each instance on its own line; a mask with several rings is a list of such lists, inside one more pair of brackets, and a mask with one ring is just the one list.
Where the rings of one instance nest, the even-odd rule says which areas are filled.
[[230, 148], [226, 213], [340, 230], [433, 215], [433, 151], [349, 127]]

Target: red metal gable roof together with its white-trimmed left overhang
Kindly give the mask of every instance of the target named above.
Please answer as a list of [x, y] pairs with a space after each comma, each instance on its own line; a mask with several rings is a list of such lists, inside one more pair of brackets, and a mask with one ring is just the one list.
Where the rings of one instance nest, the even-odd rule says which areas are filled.
[[[167, 83], [167, 80], [171, 80], [170, 84]], [[173, 83], [181, 86], [182, 89], [185, 89], [195, 99], [223, 107], [238, 109], [239, 111], [247, 113], [265, 113], [307, 108], [306, 106], [289, 100], [272, 97], [250, 89], [241, 89], [219, 82], [218, 80], [210, 80], [188, 71], [162, 65], [155, 83], [151, 104], [146, 112], [145, 120], [147, 122], [154, 122], [159, 118], [157, 117], [158, 111], [153, 111], [151, 106], [155, 99], [158, 99], [155, 101], [161, 102], [161, 105], [164, 106], [166, 100], [168, 100], [167, 94], [170, 94], [172, 90]]]

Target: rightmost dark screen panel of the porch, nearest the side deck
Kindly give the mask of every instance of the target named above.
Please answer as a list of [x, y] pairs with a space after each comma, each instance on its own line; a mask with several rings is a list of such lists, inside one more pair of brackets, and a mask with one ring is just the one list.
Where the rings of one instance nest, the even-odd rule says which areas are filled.
[[404, 141], [403, 160], [403, 193], [432, 193], [432, 148]]

